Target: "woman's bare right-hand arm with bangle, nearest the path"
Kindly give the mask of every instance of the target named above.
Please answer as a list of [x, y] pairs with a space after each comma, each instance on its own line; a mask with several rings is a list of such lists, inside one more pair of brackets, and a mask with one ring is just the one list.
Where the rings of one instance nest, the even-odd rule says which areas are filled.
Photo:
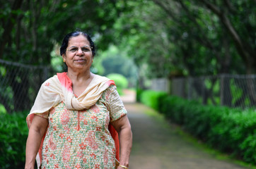
[[[129, 155], [132, 149], [132, 130], [127, 115], [111, 123], [118, 132], [120, 142], [120, 165], [129, 167]], [[118, 169], [124, 169], [118, 167]]]

